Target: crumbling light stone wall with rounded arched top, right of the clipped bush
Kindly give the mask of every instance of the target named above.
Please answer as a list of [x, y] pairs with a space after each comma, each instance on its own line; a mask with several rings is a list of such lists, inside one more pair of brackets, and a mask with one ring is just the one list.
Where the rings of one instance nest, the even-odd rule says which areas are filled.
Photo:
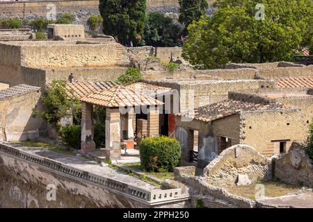
[[255, 148], [236, 145], [220, 153], [203, 171], [211, 185], [234, 185], [238, 175], [248, 175], [252, 182], [271, 178], [271, 160]]

